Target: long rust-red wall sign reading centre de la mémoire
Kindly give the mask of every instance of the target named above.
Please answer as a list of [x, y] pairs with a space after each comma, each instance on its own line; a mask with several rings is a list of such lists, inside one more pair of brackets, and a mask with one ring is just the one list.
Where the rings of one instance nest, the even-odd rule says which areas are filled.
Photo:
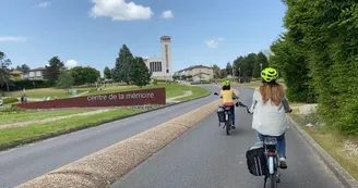
[[91, 106], [128, 106], [144, 104], [166, 104], [165, 88], [145, 89], [41, 102], [14, 104], [23, 109], [59, 109]]

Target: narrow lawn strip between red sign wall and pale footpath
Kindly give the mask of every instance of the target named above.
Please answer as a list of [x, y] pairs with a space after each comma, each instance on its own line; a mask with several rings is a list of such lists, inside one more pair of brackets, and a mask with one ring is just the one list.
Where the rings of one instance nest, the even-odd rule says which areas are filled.
[[12, 113], [0, 112], [0, 116], [1, 116], [0, 125], [71, 115], [71, 114], [84, 113], [90, 111], [94, 111], [94, 110], [76, 109], [76, 110], [55, 110], [55, 111], [21, 111], [21, 112], [12, 112]]

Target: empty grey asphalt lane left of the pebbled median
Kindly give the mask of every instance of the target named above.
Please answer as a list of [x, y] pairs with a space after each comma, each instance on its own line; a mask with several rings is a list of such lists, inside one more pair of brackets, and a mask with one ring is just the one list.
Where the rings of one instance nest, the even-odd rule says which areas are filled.
[[[218, 91], [216, 86], [205, 86]], [[212, 102], [215, 96], [0, 152], [0, 187], [10, 188]]]

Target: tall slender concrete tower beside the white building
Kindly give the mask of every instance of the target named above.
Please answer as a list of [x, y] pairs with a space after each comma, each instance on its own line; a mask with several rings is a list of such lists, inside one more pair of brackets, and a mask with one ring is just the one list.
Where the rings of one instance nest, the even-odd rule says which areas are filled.
[[162, 42], [162, 59], [164, 64], [164, 76], [166, 79], [172, 79], [170, 37], [169, 36], [160, 37], [160, 42]]

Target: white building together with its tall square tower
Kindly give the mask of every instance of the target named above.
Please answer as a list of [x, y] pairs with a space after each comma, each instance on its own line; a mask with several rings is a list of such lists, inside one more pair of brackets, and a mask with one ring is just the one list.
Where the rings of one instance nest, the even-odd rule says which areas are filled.
[[172, 61], [171, 61], [171, 38], [169, 36], [160, 37], [162, 59], [144, 59], [148, 70], [152, 72], [152, 78], [160, 80], [172, 80]]

